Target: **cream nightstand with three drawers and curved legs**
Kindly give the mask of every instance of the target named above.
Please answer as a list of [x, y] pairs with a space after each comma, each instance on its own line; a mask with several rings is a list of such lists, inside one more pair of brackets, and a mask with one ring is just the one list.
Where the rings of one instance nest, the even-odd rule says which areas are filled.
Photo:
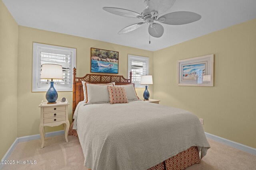
[[47, 104], [47, 100], [42, 100], [42, 103], [39, 105], [41, 108], [41, 120], [39, 126], [39, 132], [42, 139], [42, 146], [44, 147], [44, 138], [45, 131], [44, 126], [58, 126], [63, 124], [65, 131], [65, 139], [68, 142], [68, 129], [69, 129], [69, 121], [68, 121], [68, 101], [60, 102], [60, 100], [56, 101], [56, 104]]

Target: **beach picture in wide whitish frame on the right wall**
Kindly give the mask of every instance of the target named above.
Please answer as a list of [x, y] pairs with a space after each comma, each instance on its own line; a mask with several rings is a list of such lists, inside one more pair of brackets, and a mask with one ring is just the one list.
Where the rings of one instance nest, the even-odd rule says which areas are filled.
[[178, 86], [213, 86], [214, 55], [178, 61]]

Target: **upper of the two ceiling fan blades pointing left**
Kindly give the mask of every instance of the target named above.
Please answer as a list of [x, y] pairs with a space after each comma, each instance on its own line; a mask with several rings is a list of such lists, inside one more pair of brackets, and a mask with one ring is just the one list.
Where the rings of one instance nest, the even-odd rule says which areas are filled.
[[103, 7], [103, 10], [110, 12], [112, 14], [116, 14], [118, 16], [130, 17], [130, 18], [140, 18], [142, 20], [143, 16], [137, 12], [126, 10], [122, 8], [114, 8], [114, 7]]

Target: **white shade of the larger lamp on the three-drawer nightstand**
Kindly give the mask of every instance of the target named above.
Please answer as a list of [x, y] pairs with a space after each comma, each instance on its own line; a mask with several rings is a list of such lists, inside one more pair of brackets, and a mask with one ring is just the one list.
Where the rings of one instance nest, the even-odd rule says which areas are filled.
[[62, 66], [58, 64], [42, 64], [41, 79], [63, 79]]

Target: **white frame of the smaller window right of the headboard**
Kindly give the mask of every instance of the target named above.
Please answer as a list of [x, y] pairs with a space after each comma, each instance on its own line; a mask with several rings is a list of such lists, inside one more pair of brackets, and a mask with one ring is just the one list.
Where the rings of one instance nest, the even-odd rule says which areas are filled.
[[[137, 60], [137, 61], [146, 61], [146, 74], [149, 74], [149, 57], [142, 57], [142, 56], [136, 56], [136, 55], [129, 55], [128, 54], [128, 78], [130, 77], [130, 72], [131, 72], [131, 61], [132, 59]], [[145, 74], [145, 75], [146, 75]], [[145, 85], [141, 85], [138, 83], [134, 83], [135, 88], [145, 88]]]

